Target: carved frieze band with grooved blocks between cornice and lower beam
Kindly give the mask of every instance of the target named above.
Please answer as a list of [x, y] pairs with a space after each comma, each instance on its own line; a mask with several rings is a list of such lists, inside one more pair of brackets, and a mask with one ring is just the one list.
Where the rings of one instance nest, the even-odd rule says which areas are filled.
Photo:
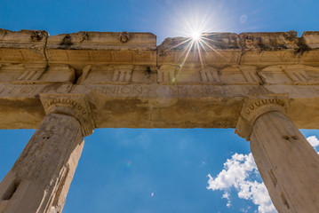
[[8, 64], [0, 67], [0, 83], [163, 84], [163, 85], [319, 85], [319, 67], [275, 65], [264, 68], [233, 65], [183, 67], [162, 65], [150, 69], [133, 65], [88, 65], [76, 70], [64, 64]]

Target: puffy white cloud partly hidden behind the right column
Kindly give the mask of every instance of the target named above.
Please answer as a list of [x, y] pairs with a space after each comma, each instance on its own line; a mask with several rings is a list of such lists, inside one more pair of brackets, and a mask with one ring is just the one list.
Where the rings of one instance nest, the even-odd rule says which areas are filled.
[[[311, 146], [319, 146], [319, 140], [315, 136], [307, 138]], [[319, 153], [318, 153], [319, 154]], [[260, 213], [275, 213], [275, 207], [269, 197], [267, 188], [263, 182], [259, 183], [252, 180], [259, 174], [257, 166], [253, 160], [252, 154], [233, 154], [231, 159], [224, 163], [224, 170], [221, 170], [217, 177], [208, 175], [207, 187], [213, 191], [223, 190], [223, 199], [227, 199], [227, 207], [231, 206], [230, 189], [235, 188], [238, 198], [250, 200], [258, 206]], [[250, 207], [241, 209], [248, 211]]]

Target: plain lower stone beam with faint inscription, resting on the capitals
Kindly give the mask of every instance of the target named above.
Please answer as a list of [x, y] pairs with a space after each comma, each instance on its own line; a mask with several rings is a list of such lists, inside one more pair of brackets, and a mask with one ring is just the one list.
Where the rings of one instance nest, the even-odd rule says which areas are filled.
[[285, 94], [299, 128], [319, 127], [317, 85], [7, 84], [0, 91], [1, 129], [36, 128], [42, 93], [87, 94], [97, 128], [235, 128], [246, 96]]

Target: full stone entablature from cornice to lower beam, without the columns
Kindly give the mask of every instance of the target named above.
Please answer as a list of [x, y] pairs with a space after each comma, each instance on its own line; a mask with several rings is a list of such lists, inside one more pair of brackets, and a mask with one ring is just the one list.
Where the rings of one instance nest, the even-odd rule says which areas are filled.
[[299, 128], [319, 126], [318, 32], [203, 36], [202, 64], [187, 38], [2, 29], [0, 128], [36, 128], [43, 93], [85, 94], [96, 128], [235, 128], [245, 97], [283, 94]]

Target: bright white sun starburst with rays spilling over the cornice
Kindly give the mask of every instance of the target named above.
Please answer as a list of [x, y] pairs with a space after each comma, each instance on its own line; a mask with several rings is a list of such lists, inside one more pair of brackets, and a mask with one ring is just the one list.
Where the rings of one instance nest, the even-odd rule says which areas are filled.
[[[190, 75], [188, 69], [203, 70], [205, 61], [210, 58], [212, 51], [219, 54], [215, 50], [215, 36], [208, 32], [221, 31], [219, 26], [223, 26], [223, 21], [219, 20], [220, 7], [214, 3], [193, 4], [185, 0], [176, 1], [176, 5], [179, 6], [175, 7], [174, 12], [167, 12], [167, 17], [170, 18], [167, 26], [172, 34], [176, 35], [168, 51], [179, 51], [179, 67], [170, 73], [171, 84], [179, 83], [179, 75]], [[197, 67], [198, 64], [201, 67]]]

